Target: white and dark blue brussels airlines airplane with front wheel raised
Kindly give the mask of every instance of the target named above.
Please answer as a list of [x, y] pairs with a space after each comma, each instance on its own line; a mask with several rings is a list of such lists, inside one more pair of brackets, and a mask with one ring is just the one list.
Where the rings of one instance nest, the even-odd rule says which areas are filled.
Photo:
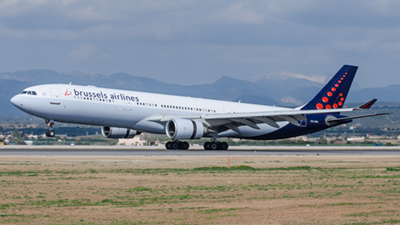
[[218, 138], [274, 140], [305, 135], [387, 113], [344, 116], [370, 108], [376, 99], [356, 108], [344, 102], [358, 67], [344, 65], [307, 104], [297, 108], [246, 104], [202, 98], [70, 84], [44, 84], [11, 98], [18, 109], [45, 119], [48, 137], [54, 121], [101, 126], [106, 138], [133, 138], [142, 132], [166, 134], [166, 149], [189, 149], [182, 140], [210, 138], [205, 150], [227, 150]]

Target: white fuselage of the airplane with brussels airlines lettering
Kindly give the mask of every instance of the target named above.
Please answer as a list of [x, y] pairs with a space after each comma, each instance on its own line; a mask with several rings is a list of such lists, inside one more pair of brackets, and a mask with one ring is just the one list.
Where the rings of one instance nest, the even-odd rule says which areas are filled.
[[[54, 121], [107, 127], [130, 128], [137, 131], [165, 134], [165, 124], [146, 118], [160, 115], [207, 115], [218, 113], [266, 112], [288, 108], [236, 103], [202, 98], [126, 91], [94, 86], [48, 84], [26, 88], [11, 102], [22, 111]], [[279, 122], [280, 127], [288, 122]], [[279, 128], [261, 124], [261, 129], [241, 126], [219, 136], [251, 137]]]

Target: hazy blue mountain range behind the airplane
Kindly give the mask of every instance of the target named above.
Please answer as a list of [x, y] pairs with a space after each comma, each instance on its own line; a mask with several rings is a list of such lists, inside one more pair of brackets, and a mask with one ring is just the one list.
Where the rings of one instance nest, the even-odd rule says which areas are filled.
[[[275, 72], [247, 79], [223, 76], [211, 84], [187, 86], [164, 83], [127, 73], [102, 75], [54, 70], [22, 70], [0, 73], [0, 104], [2, 106], [0, 116], [24, 115], [12, 106], [10, 98], [26, 87], [38, 84], [72, 82], [78, 85], [295, 107], [311, 100], [328, 79], [325, 76], [309, 77], [302, 74]], [[400, 102], [399, 96], [400, 85], [398, 84], [360, 88], [354, 83], [346, 103], [361, 103], [373, 98], [385, 102]]]

